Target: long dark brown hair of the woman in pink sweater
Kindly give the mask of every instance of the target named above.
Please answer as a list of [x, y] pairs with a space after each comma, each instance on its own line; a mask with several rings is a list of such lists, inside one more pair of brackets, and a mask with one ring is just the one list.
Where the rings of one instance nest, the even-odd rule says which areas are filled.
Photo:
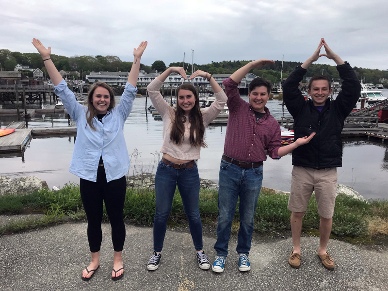
[[[191, 146], [201, 146], [207, 147], [204, 139], [205, 135], [205, 126], [203, 125], [202, 112], [199, 106], [198, 93], [195, 90], [194, 86], [191, 84], [182, 84], [178, 87], [176, 97], [178, 100], [179, 90], [190, 90], [193, 92], [195, 97], [195, 104], [193, 109], [189, 113], [189, 122], [191, 123], [190, 127], [190, 145]], [[177, 105], [175, 110], [175, 120], [172, 123], [170, 141], [174, 142], [176, 145], [181, 145], [184, 138], [185, 126], [184, 123], [187, 121], [187, 117], [184, 115], [185, 111]], [[194, 137], [195, 133], [195, 137]]]

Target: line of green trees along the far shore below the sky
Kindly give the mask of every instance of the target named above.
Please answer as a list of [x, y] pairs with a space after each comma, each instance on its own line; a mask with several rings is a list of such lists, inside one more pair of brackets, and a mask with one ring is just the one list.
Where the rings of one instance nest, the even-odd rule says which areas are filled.
[[[122, 71], [129, 72], [132, 66], [132, 62], [125, 62], [120, 60], [118, 56], [60, 56], [51, 55], [51, 59], [58, 70], [78, 71], [82, 73], [83, 79], [90, 72], [99, 71]], [[194, 64], [194, 70], [207, 71], [210, 74], [232, 74], [243, 65], [248, 64], [250, 61], [222, 61], [222, 62], [211, 62], [206, 65]], [[8, 49], [0, 49], [0, 69], [13, 71], [17, 64], [30, 65], [33, 68], [40, 68], [44, 73], [47, 74], [46, 67], [42, 61], [42, 58], [38, 53], [21, 53], [18, 51], [10, 51]], [[292, 70], [297, 66], [301, 65], [299, 62], [283, 62], [283, 74], [282, 78], [287, 78]], [[183, 62], [170, 63], [169, 66], [183, 66]], [[280, 81], [282, 61], [275, 61], [275, 64], [265, 65], [259, 69], [253, 69], [250, 73], [266, 78], [273, 83]], [[140, 69], [149, 73], [152, 69], [163, 72], [167, 66], [162, 60], [155, 61], [151, 66], [141, 64]], [[192, 65], [184, 64], [184, 68], [187, 69], [188, 75], [191, 74]], [[377, 84], [380, 83], [380, 79], [388, 79], [388, 70], [378, 69], [366, 69], [361, 67], [354, 67], [356, 75], [359, 80], [363, 80], [366, 83]], [[312, 64], [307, 70], [306, 76], [314, 75], [325, 75], [333, 82], [339, 82], [339, 74], [334, 65], [322, 65]], [[74, 76], [78, 78], [76, 75]], [[384, 86], [388, 88], [388, 82], [384, 82]]]

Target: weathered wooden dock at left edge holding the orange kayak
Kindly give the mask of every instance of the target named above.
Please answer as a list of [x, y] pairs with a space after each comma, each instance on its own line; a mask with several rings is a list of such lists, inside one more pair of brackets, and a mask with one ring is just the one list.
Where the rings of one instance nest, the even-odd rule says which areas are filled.
[[21, 152], [30, 142], [32, 129], [16, 129], [15, 132], [0, 137], [0, 153]]

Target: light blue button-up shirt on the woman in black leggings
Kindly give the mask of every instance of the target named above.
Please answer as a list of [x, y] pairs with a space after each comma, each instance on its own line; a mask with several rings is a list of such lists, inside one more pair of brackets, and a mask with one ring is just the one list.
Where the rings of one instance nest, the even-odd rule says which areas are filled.
[[77, 138], [70, 162], [70, 173], [89, 181], [96, 182], [100, 156], [104, 161], [107, 181], [123, 177], [129, 170], [129, 154], [124, 139], [124, 122], [132, 110], [137, 88], [127, 82], [120, 104], [102, 117], [93, 118], [97, 131], [87, 125], [87, 107], [76, 100], [67, 88], [65, 80], [54, 86], [55, 94], [61, 98], [65, 109], [77, 124]]

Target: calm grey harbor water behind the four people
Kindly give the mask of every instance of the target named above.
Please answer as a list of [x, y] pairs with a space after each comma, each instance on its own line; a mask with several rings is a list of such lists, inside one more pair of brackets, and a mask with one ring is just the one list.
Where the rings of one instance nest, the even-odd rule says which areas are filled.
[[[245, 96], [244, 99], [247, 100]], [[116, 98], [119, 102], [120, 97]], [[125, 139], [131, 155], [130, 174], [138, 171], [156, 171], [155, 161], [162, 146], [162, 121], [155, 121], [145, 111], [145, 98], [136, 98], [132, 113], [125, 127]], [[117, 104], [117, 103], [116, 103]], [[148, 106], [150, 100], [148, 100]], [[290, 115], [281, 101], [270, 100], [267, 107], [274, 115]], [[15, 120], [15, 116], [1, 117], [3, 126]], [[29, 127], [68, 126], [70, 121], [62, 114], [35, 114], [28, 122]], [[201, 150], [198, 170], [201, 178], [218, 182], [220, 159], [224, 149], [226, 126], [209, 126], [205, 131], [207, 148]], [[24, 161], [19, 157], [0, 159], [0, 175], [11, 178], [20, 176], [38, 176], [46, 180], [49, 187], [63, 186], [66, 182], [79, 183], [79, 178], [68, 171], [75, 138], [40, 138], [32, 139], [24, 153]], [[387, 145], [369, 141], [344, 142], [343, 166], [338, 168], [338, 183], [352, 186], [366, 198], [388, 198], [388, 148]], [[280, 160], [268, 159], [264, 162], [263, 186], [283, 191], [290, 191], [291, 154]]]

